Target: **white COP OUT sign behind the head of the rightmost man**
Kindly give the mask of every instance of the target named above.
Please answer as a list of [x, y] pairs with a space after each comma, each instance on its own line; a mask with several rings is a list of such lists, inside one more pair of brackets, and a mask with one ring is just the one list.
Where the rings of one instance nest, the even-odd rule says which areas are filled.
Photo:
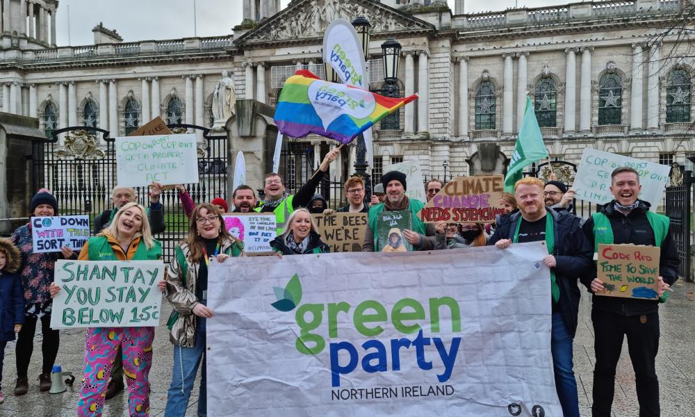
[[596, 204], [610, 202], [613, 199], [610, 192], [610, 174], [618, 167], [635, 168], [639, 173], [639, 183], [642, 186], [639, 199], [649, 202], [653, 206], [661, 202], [664, 187], [669, 181], [669, 172], [671, 171], [669, 165], [589, 148], [584, 148], [582, 162], [579, 164], [572, 185], [572, 188], [577, 192], [576, 197]]

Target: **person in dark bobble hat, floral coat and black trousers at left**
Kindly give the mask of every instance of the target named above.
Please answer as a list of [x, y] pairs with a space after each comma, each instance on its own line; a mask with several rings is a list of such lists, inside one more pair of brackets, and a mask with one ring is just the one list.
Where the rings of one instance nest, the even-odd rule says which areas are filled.
[[[58, 215], [58, 200], [49, 190], [42, 188], [31, 199], [29, 205], [30, 217], [46, 217]], [[22, 254], [22, 263], [19, 267], [19, 277], [22, 280], [22, 293], [24, 295], [24, 325], [17, 336], [15, 358], [17, 363], [17, 385], [15, 395], [24, 395], [29, 389], [28, 368], [31, 362], [31, 354], [34, 348], [34, 335], [36, 323], [41, 321], [41, 353], [43, 363], [41, 375], [39, 375], [39, 390], [51, 389], [51, 370], [53, 369], [58, 347], [60, 346], [60, 334], [58, 330], [51, 329], [51, 311], [53, 300], [49, 288], [53, 281], [53, 275], [57, 259], [76, 259], [77, 254], [68, 247], [63, 246], [59, 253], [34, 253], [33, 239], [31, 237], [31, 222], [18, 227], [12, 234], [12, 242]]]

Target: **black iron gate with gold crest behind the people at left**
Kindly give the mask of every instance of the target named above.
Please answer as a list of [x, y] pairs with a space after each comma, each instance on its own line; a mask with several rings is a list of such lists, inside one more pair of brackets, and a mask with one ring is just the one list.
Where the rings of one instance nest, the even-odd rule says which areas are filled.
[[[202, 129], [198, 143], [199, 182], [184, 184], [195, 204], [215, 197], [227, 199], [227, 137], [208, 136], [208, 129], [186, 124], [171, 124], [174, 133]], [[65, 133], [65, 145], [58, 135]], [[101, 135], [99, 135], [101, 133]], [[101, 136], [98, 138], [97, 136]], [[33, 143], [32, 188], [48, 188], [58, 199], [61, 215], [86, 214], [90, 221], [112, 208], [111, 190], [117, 186], [115, 139], [108, 131], [83, 126], [54, 131], [52, 138]], [[138, 202], [149, 205], [147, 187], [136, 188]], [[177, 190], [165, 190], [160, 202], [164, 207], [165, 231], [157, 234], [165, 261], [172, 259], [174, 246], [188, 233], [188, 218], [183, 213]], [[93, 223], [92, 223], [93, 224]]]

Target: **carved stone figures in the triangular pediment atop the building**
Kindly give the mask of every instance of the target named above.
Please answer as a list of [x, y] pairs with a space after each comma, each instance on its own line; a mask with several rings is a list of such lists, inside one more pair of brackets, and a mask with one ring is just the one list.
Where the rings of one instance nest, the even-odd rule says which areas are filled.
[[343, 0], [311, 0], [295, 3], [288, 13], [277, 15], [261, 24], [250, 34], [246, 42], [323, 36], [328, 25], [338, 17], [352, 21], [357, 16], [369, 16], [372, 33], [407, 30], [416, 24], [407, 16], [369, 3], [360, 4], [357, 1]]

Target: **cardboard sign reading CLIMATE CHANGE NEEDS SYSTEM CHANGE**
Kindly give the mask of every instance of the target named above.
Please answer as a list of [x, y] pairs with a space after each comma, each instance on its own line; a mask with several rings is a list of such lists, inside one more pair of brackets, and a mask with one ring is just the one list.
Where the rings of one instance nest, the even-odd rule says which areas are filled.
[[435, 195], [420, 211], [424, 223], [440, 220], [450, 223], [489, 223], [504, 214], [500, 204], [505, 189], [503, 175], [456, 177]]

